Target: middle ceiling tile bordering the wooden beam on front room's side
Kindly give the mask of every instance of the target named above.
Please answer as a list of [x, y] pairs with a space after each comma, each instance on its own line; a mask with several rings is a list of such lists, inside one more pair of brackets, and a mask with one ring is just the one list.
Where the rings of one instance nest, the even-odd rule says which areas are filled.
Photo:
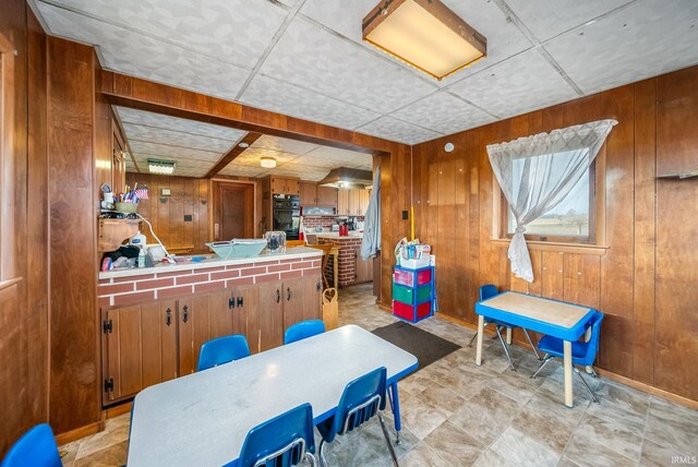
[[254, 107], [348, 130], [378, 117], [371, 110], [262, 75], [252, 80], [240, 100]]

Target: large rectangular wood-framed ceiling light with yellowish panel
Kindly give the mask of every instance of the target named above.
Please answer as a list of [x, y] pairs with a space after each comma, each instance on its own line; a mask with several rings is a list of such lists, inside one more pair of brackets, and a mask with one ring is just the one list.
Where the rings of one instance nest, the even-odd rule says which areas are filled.
[[440, 0], [382, 0], [363, 40], [441, 81], [488, 52], [488, 39]]

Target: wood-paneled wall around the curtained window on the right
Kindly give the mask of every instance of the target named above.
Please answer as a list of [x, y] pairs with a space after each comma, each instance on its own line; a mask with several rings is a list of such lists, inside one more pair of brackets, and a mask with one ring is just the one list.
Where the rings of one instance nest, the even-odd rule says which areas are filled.
[[500, 188], [485, 146], [605, 118], [618, 121], [598, 161], [607, 249], [531, 248], [530, 292], [606, 314], [600, 368], [698, 400], [698, 179], [655, 178], [698, 167], [698, 67], [414, 146], [417, 229], [437, 255], [441, 312], [474, 324], [480, 285], [527, 290], [508, 244], [492, 240]]

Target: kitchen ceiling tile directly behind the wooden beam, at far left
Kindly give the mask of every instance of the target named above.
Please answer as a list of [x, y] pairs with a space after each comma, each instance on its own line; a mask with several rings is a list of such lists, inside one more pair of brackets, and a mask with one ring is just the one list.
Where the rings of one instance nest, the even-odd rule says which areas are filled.
[[130, 109], [128, 107], [117, 107], [117, 113], [119, 113], [119, 118], [123, 123], [164, 128], [167, 130], [181, 131], [202, 136], [218, 137], [230, 142], [236, 142], [245, 134], [244, 131], [236, 130], [233, 128], [219, 127], [217, 124], [186, 120], [161, 113], [146, 112], [144, 110]]

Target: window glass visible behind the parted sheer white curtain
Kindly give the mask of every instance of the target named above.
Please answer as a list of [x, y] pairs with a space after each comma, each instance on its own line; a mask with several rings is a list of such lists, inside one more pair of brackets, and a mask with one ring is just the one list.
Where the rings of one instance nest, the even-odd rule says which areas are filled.
[[[567, 153], [557, 153], [554, 155], [555, 158], [564, 158], [565, 156], [567, 156]], [[525, 169], [525, 159], [515, 159], [513, 164], [513, 191], [514, 193], [518, 193], [521, 173]], [[553, 165], [553, 167], [559, 166]], [[531, 179], [535, 178], [531, 177]], [[559, 176], [557, 175], [556, 177], [556, 173], [552, 173], [551, 179], [553, 182], [559, 182]], [[528, 224], [526, 227], [526, 238], [528, 240], [539, 241], [593, 243], [595, 237], [594, 188], [595, 161], [557, 206]], [[516, 220], [504, 196], [502, 196], [502, 212], [505, 217], [502, 225], [506, 226], [506, 232], [504, 234], [510, 238], [516, 229]]]

